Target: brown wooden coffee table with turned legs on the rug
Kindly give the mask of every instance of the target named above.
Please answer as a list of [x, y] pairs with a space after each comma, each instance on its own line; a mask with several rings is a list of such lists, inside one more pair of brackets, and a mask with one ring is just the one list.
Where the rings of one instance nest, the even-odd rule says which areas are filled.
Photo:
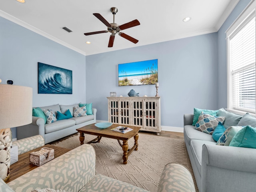
[[[128, 160], [128, 156], [132, 153], [133, 150], [138, 150], [138, 132], [140, 130], [140, 127], [134, 127], [134, 126], [128, 126], [129, 128], [132, 128], [133, 130], [127, 133], [119, 133], [119, 132], [115, 132], [112, 131], [110, 129], [112, 128], [116, 128], [118, 126], [122, 126], [122, 125], [118, 125], [118, 124], [112, 124], [112, 126], [106, 128], [106, 129], [101, 129], [96, 127], [94, 124], [90, 124], [90, 125], [86, 125], [82, 128], [78, 128], [76, 129], [79, 133], [80, 133], [80, 144], [84, 144], [84, 134], [90, 134], [90, 135], [96, 135], [97, 138], [87, 142], [88, 144], [90, 143], [98, 143], [100, 142], [102, 137], [107, 137], [107, 138], [112, 138], [112, 139], [117, 139], [118, 143], [120, 144], [120, 146], [122, 147], [123, 151], [124, 151], [124, 155], [123, 155], [123, 160], [124, 160], [124, 164], [127, 164], [127, 160]], [[130, 138], [134, 138], [134, 146], [131, 149], [128, 149], [128, 140]], [[123, 141], [123, 144], [121, 144], [120, 140]]]

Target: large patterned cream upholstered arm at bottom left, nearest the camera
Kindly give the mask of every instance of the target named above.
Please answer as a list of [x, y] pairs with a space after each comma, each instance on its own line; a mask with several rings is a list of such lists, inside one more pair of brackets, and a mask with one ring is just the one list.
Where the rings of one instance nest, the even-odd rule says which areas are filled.
[[83, 144], [12, 180], [8, 186], [16, 192], [36, 188], [80, 191], [95, 176], [95, 150]]

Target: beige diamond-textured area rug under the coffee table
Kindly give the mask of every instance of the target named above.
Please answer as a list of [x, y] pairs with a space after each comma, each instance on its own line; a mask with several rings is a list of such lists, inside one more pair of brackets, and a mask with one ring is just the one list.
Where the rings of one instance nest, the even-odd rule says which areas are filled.
[[[84, 143], [96, 136], [85, 134]], [[80, 146], [79, 135], [74, 134], [52, 145], [73, 149]], [[134, 139], [128, 140], [129, 147]], [[167, 138], [139, 132], [138, 150], [123, 164], [123, 150], [117, 140], [102, 138], [99, 143], [91, 144], [96, 151], [96, 173], [102, 174], [134, 186], [156, 192], [164, 166], [170, 162], [182, 164], [190, 170], [194, 178], [184, 139]], [[195, 184], [196, 190], [197, 186]]]

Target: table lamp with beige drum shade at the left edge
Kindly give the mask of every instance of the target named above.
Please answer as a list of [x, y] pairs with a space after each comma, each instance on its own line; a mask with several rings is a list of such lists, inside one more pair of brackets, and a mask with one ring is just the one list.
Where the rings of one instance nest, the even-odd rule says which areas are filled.
[[10, 178], [10, 128], [32, 122], [32, 88], [0, 84], [0, 178]]

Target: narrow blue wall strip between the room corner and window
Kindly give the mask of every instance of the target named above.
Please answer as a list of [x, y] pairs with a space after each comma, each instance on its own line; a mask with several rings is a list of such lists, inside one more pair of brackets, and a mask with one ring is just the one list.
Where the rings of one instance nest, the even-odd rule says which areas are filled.
[[218, 31], [218, 108], [227, 107], [227, 44], [226, 30], [251, 0], [240, 0]]

